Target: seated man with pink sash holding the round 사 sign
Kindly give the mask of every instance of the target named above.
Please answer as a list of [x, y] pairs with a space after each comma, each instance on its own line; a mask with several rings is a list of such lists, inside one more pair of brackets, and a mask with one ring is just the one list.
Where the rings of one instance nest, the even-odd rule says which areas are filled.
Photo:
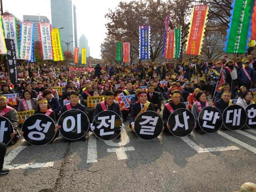
[[180, 102], [181, 94], [179, 91], [174, 91], [171, 95], [172, 100], [164, 105], [163, 110], [163, 121], [164, 121], [164, 131], [168, 131], [170, 129], [170, 126], [168, 125], [168, 118], [172, 112], [174, 112], [177, 109], [184, 108], [186, 109], [186, 105], [182, 102]]

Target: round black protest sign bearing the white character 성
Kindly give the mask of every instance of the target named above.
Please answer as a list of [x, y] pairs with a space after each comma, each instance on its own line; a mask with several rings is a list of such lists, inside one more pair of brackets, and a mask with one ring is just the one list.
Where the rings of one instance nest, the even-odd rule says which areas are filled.
[[24, 139], [29, 144], [36, 146], [50, 143], [55, 136], [54, 129], [54, 120], [44, 114], [34, 114], [22, 124]]

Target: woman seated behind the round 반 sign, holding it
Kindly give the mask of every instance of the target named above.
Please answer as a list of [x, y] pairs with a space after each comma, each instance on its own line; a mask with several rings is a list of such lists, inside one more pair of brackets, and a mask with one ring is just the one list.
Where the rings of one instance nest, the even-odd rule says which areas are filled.
[[[196, 128], [198, 129], [198, 132], [200, 134], [204, 134], [204, 131], [201, 130], [201, 128], [198, 125], [198, 116], [199, 116], [199, 113], [202, 111], [203, 108], [211, 106], [211, 105], [208, 103], [206, 94], [204, 92], [199, 92], [196, 95], [196, 100], [197, 101], [192, 106], [192, 113], [193, 113], [193, 115], [195, 117], [195, 120], [196, 120]], [[212, 106], [212, 107], [214, 107], [214, 106]]]

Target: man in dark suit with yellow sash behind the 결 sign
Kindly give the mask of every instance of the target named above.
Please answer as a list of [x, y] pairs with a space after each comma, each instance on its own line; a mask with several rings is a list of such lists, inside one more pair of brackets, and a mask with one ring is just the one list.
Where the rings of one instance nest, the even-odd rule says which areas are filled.
[[134, 129], [134, 121], [136, 120], [136, 117], [141, 114], [144, 111], [155, 111], [153, 104], [150, 102], [147, 102], [147, 94], [146, 92], [138, 92], [138, 98], [139, 100], [132, 105], [132, 112], [130, 114], [130, 128], [132, 128], [132, 131], [135, 132]]

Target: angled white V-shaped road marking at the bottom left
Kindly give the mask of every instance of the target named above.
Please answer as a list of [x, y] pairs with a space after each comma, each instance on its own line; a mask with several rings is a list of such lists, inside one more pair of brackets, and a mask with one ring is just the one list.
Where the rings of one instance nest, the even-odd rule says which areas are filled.
[[26, 169], [26, 168], [42, 168], [42, 167], [52, 167], [54, 162], [46, 162], [46, 163], [26, 163], [26, 164], [13, 164], [10, 163], [14, 158], [27, 146], [18, 146], [14, 150], [12, 150], [6, 158], [4, 158], [4, 168], [12, 169]]

